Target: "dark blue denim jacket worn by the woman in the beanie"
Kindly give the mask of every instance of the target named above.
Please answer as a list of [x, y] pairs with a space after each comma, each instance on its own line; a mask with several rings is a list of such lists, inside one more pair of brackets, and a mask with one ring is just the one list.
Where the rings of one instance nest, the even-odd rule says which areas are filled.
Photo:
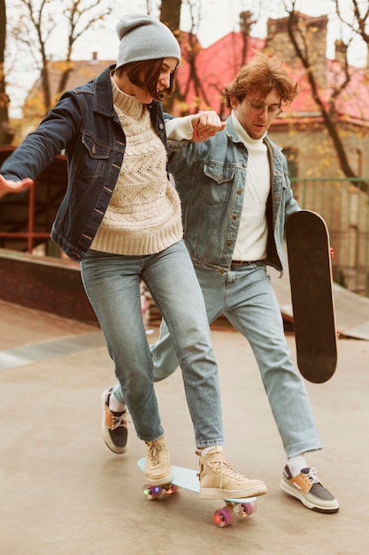
[[[117, 183], [126, 137], [113, 108], [110, 72], [69, 90], [39, 127], [4, 161], [0, 173], [10, 180], [35, 179], [65, 150], [68, 184], [50, 236], [80, 261], [88, 252]], [[154, 129], [166, 147], [161, 104], [149, 106]]]

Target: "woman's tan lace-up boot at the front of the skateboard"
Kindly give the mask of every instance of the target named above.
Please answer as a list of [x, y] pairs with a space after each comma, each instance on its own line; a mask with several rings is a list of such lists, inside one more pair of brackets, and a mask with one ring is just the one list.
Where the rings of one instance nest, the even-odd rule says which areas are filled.
[[263, 496], [265, 483], [250, 480], [239, 474], [234, 463], [227, 463], [224, 454], [217, 446], [200, 457], [200, 497], [203, 499], [239, 499], [240, 497]]

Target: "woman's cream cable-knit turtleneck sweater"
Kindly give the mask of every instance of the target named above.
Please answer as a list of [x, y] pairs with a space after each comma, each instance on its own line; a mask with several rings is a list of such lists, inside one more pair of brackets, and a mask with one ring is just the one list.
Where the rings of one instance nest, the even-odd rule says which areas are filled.
[[126, 151], [91, 248], [111, 254], [159, 253], [182, 238], [181, 202], [167, 178], [165, 147], [151, 126], [148, 107], [112, 80], [111, 87]]

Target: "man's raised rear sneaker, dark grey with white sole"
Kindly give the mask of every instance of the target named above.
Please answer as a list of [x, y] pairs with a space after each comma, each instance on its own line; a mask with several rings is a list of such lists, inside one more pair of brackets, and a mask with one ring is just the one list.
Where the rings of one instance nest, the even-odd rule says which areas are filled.
[[113, 453], [117, 453], [117, 455], [122, 455], [127, 451], [127, 410], [123, 412], [114, 412], [109, 409], [111, 392], [112, 387], [106, 389], [101, 396], [103, 404], [101, 433], [109, 449], [111, 449]]

